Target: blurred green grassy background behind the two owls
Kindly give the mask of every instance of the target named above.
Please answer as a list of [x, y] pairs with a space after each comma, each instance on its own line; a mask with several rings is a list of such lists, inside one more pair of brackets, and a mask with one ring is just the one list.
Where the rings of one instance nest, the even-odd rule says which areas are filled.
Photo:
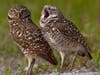
[[[14, 4], [27, 6], [32, 13], [32, 20], [37, 25], [44, 5], [59, 8], [87, 38], [96, 68], [100, 68], [100, 0], [0, 0], [0, 64], [2, 60], [21, 55], [10, 37], [7, 21], [8, 10]], [[9, 66], [4, 72], [10, 72]]]

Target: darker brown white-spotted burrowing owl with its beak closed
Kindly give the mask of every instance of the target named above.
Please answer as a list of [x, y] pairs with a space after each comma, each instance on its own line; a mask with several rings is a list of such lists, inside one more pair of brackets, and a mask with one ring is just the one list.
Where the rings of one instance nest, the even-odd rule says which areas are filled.
[[41, 57], [56, 65], [53, 51], [42, 36], [41, 30], [32, 22], [31, 13], [27, 7], [14, 5], [8, 12], [10, 33], [21, 51], [28, 59], [27, 75], [31, 75], [35, 59]]

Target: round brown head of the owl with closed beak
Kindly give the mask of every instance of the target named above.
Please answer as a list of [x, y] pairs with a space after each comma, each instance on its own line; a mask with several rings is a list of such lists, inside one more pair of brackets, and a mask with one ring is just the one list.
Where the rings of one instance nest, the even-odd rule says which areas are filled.
[[28, 8], [22, 5], [14, 5], [8, 11], [8, 20], [25, 19], [31, 17], [31, 13]]

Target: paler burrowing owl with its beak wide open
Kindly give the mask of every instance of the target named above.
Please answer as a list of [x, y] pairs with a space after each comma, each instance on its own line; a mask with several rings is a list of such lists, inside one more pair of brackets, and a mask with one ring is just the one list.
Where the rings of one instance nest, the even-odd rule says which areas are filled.
[[41, 13], [40, 26], [48, 43], [59, 51], [62, 59], [61, 68], [66, 53], [75, 54], [72, 65], [77, 55], [87, 56], [92, 59], [83, 35], [55, 6], [44, 6]]

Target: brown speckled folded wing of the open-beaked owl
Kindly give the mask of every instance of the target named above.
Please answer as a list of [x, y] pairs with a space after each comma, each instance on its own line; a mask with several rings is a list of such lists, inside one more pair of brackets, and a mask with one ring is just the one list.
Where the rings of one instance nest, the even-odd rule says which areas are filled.
[[65, 22], [55, 22], [53, 26], [54, 28], [57, 28], [57, 30], [65, 37], [82, 44], [84, 48], [90, 50], [90, 48], [87, 46], [85, 38], [71, 21], [66, 20]]

